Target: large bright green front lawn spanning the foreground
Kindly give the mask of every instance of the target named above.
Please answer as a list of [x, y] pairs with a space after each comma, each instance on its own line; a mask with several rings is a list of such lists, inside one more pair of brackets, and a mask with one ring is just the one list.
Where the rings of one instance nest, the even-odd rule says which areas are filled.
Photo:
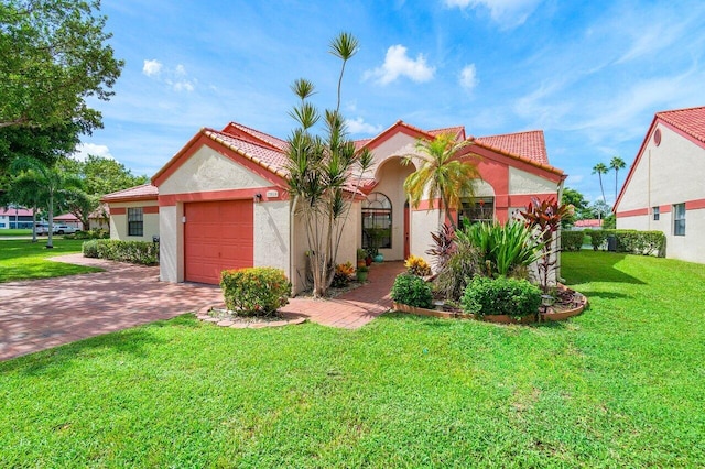
[[590, 308], [555, 325], [186, 315], [0, 363], [0, 467], [705, 465], [705, 265], [563, 266]]

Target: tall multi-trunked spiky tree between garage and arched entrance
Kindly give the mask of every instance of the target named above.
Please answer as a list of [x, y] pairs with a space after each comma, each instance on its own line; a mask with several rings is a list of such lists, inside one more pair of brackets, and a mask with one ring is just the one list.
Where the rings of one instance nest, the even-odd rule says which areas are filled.
[[291, 87], [300, 102], [290, 113], [299, 127], [289, 138], [289, 193], [292, 210], [302, 217], [305, 226], [315, 297], [325, 296], [333, 282], [334, 265], [350, 211], [349, 199], [357, 194], [362, 173], [372, 161], [369, 151], [356, 152], [339, 112], [343, 73], [357, 48], [357, 39], [348, 33], [340, 33], [330, 42], [329, 52], [343, 61], [343, 67], [337, 106], [335, 110], [325, 111], [323, 137], [313, 133], [321, 118], [308, 100], [314, 94], [313, 84], [297, 79]]

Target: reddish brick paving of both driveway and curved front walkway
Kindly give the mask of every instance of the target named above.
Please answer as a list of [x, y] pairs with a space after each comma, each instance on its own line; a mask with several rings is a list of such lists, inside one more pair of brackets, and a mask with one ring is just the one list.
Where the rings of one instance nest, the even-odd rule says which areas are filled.
[[[0, 284], [0, 360], [223, 302], [218, 286], [160, 282], [159, 268], [82, 254], [53, 260], [106, 271]], [[365, 286], [330, 301], [292, 298], [283, 312], [328, 326], [360, 327], [391, 307], [389, 291], [402, 270], [401, 262], [373, 265]]]

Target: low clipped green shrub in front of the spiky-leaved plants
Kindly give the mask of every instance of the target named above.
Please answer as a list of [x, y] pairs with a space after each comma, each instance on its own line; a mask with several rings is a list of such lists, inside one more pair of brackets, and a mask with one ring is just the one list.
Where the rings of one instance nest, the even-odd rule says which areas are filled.
[[516, 318], [535, 315], [541, 306], [541, 290], [525, 280], [477, 276], [465, 288], [463, 310], [477, 316], [509, 315]]

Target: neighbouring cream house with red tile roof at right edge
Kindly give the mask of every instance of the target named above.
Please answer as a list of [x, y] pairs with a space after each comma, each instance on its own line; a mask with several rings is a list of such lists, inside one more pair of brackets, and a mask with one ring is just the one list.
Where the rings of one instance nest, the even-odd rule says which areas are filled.
[[657, 112], [615, 203], [618, 229], [658, 230], [705, 263], [705, 107]]

